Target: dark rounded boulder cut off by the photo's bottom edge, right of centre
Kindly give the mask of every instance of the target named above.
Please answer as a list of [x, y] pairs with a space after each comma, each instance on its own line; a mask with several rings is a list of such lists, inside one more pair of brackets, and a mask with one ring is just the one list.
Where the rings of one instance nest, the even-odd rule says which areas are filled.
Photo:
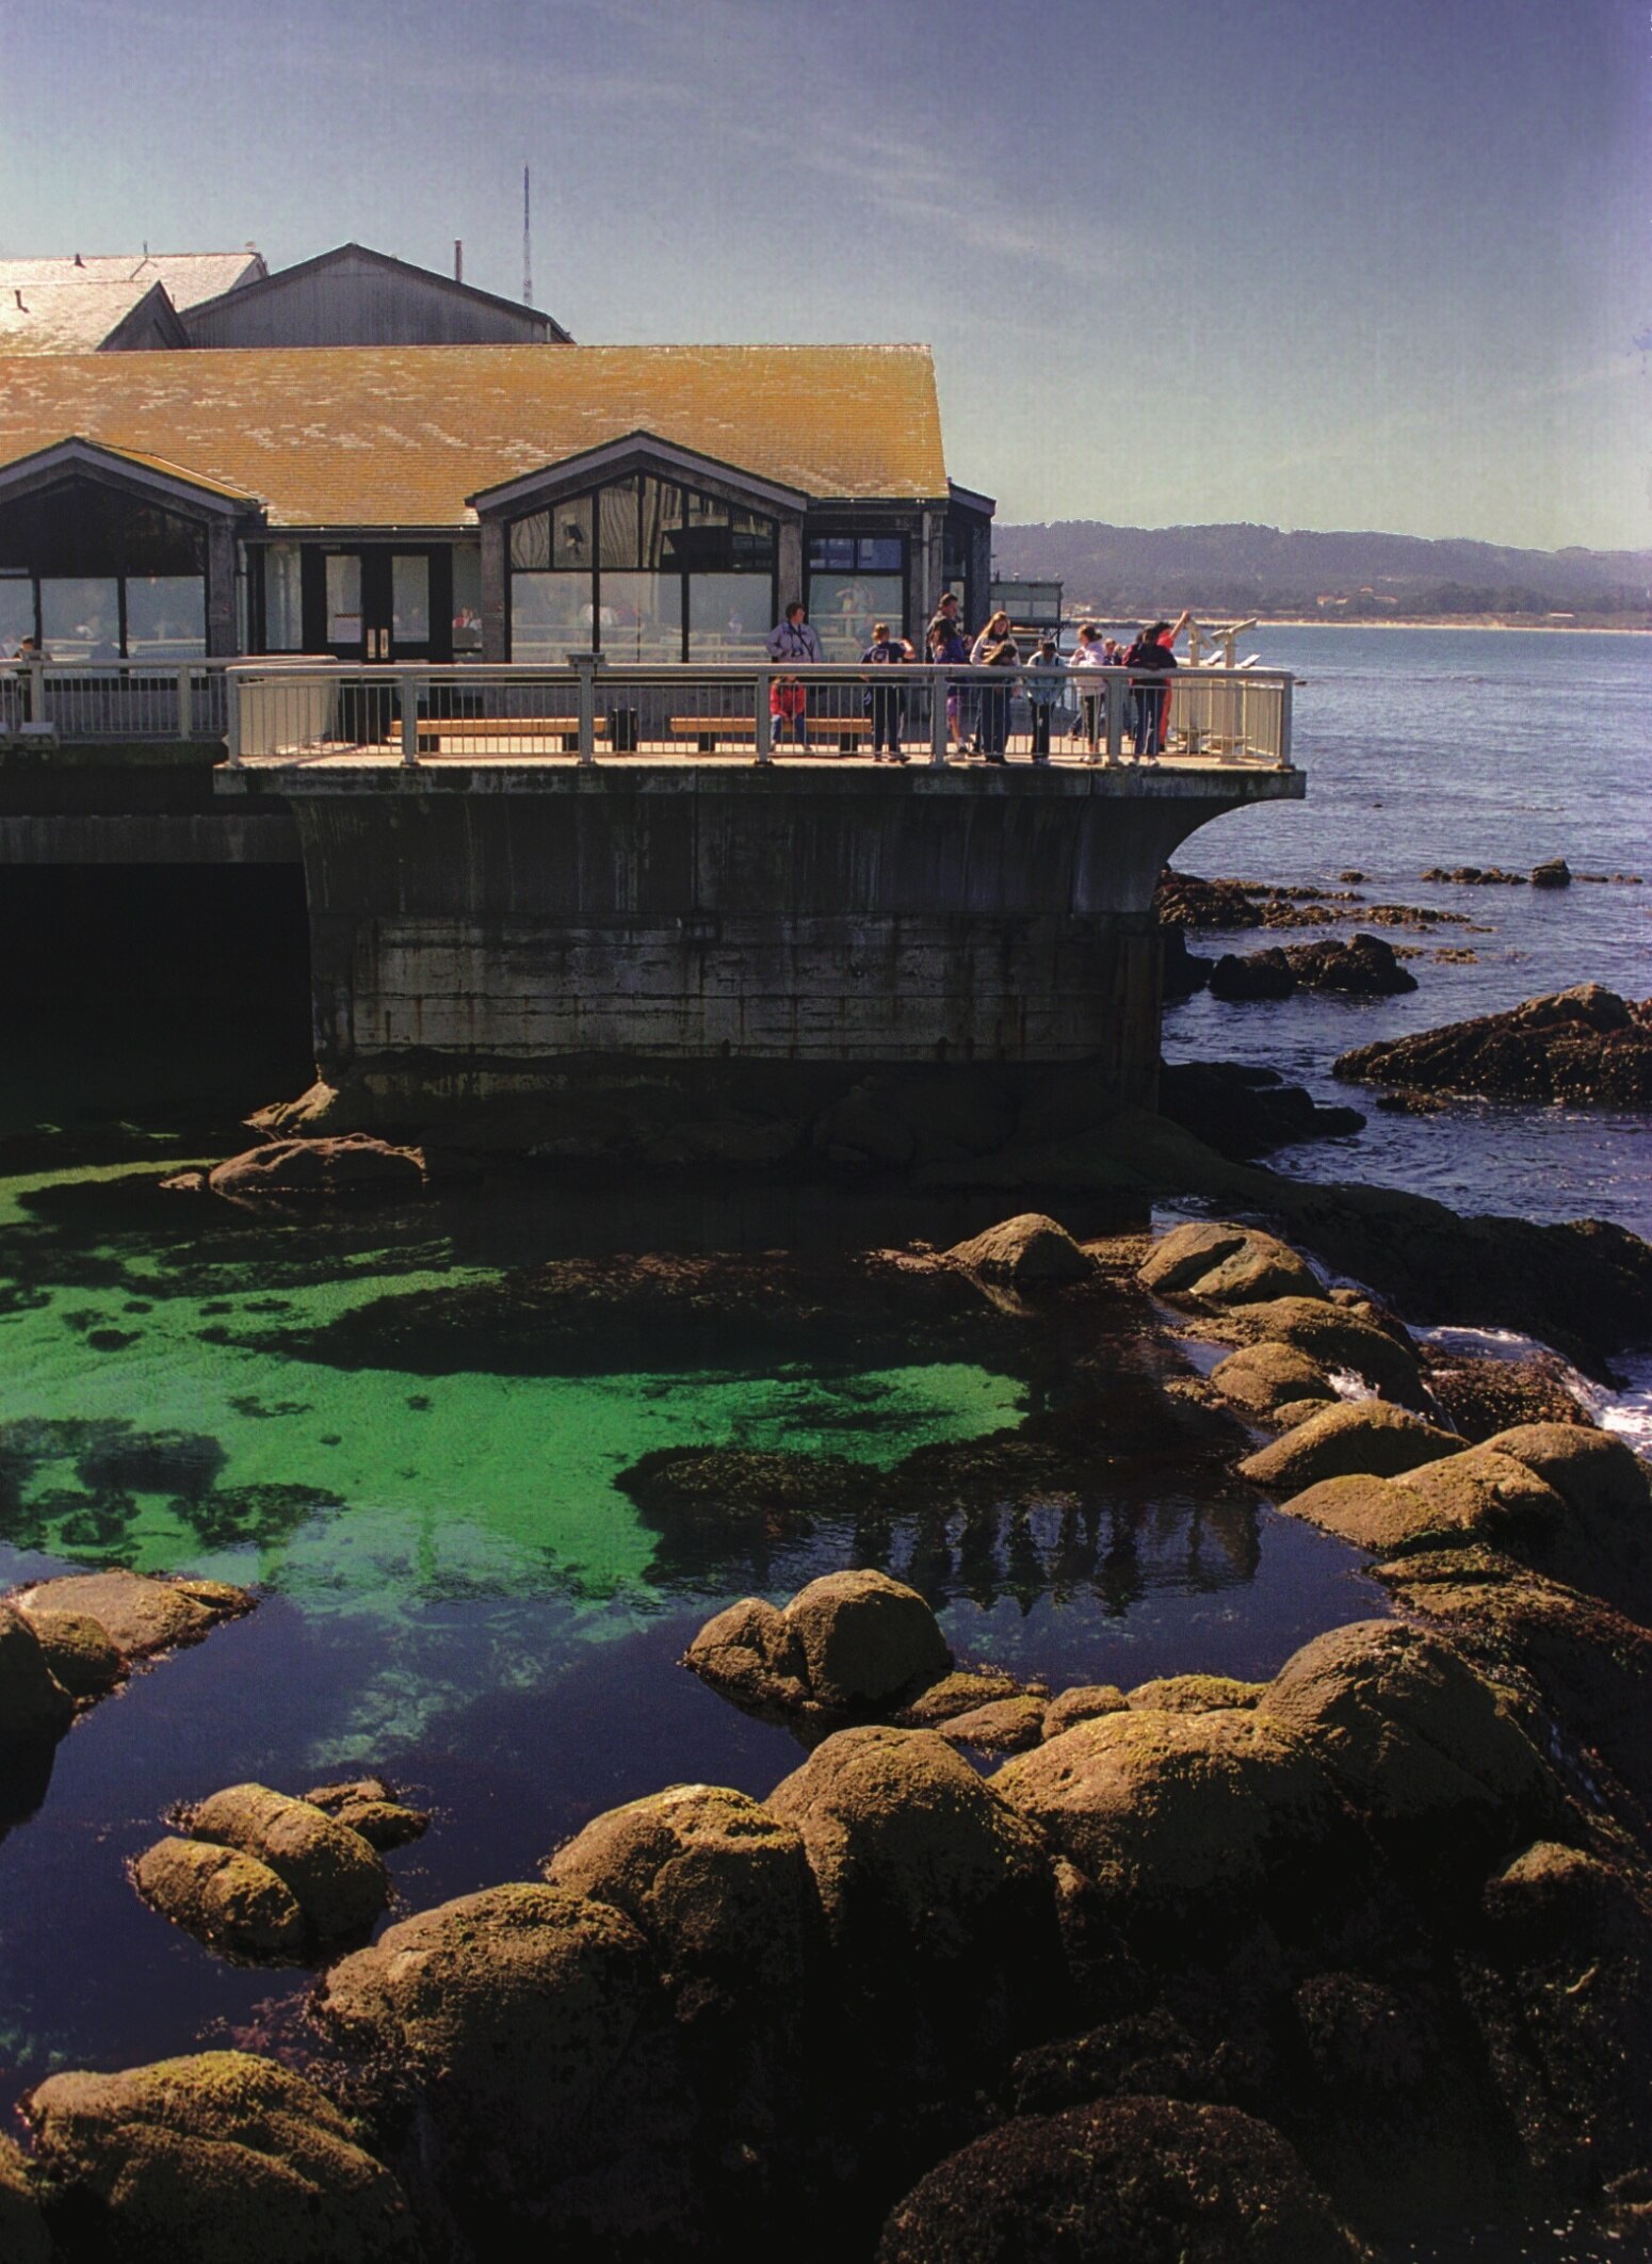
[[1238, 2108], [1023, 2115], [896, 2203], [878, 2264], [1360, 2264], [1285, 2139]]

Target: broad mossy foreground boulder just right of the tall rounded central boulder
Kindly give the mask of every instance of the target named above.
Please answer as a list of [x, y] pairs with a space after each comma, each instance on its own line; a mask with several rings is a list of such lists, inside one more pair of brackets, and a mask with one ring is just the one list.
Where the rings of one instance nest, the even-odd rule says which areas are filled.
[[1005, 1761], [993, 1786], [1077, 1870], [1147, 1913], [1254, 1899], [1337, 1823], [1308, 1743], [1236, 1707], [1102, 1714]]

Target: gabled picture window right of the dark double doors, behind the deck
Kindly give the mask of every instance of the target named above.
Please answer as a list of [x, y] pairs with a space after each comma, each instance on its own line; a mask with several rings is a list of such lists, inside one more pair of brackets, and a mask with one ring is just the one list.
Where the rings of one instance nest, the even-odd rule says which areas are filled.
[[774, 521], [631, 473], [509, 528], [511, 659], [760, 661], [774, 625]]

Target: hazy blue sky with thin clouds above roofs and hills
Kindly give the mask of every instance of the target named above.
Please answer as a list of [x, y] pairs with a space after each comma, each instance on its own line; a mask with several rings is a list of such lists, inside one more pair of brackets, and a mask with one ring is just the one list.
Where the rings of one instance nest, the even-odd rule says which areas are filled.
[[[1645, 0], [0, 0], [0, 251], [935, 346], [1000, 516], [1652, 543]], [[1638, 344], [1645, 340], [1645, 344]]]

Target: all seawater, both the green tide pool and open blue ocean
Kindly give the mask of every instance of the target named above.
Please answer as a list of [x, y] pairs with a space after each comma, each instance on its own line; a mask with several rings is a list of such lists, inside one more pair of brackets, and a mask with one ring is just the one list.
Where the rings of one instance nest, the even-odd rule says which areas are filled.
[[[1270, 629], [1254, 645], [1303, 677], [1310, 799], [1211, 826], [1179, 863], [1301, 883], [1358, 865], [1371, 901], [1437, 903], [1485, 933], [1444, 933], [1475, 964], [1412, 960], [1421, 989], [1401, 1001], [1190, 1001], [1168, 1021], [1172, 1057], [1267, 1062], [1326, 1098], [1358, 1098], [1328, 1078], [1344, 1046], [1564, 983], [1652, 989], [1650, 641]], [[1435, 863], [1523, 869], [1559, 854], [1647, 885], [1548, 897], [1419, 881]], [[1267, 1506], [1175, 1490], [1120, 1492], [1077, 1553], [1055, 1512], [984, 1546], [948, 1535], [921, 1564], [898, 1521], [869, 1540], [831, 1517], [760, 1562], [697, 1555], [681, 1537], [665, 1549], [616, 1485], [652, 1447], [790, 1447], [887, 1467], [1016, 1422], [1023, 1388], [921, 1358], [577, 1379], [477, 1358], [428, 1377], [301, 1356], [312, 1331], [371, 1297], [561, 1252], [941, 1241], [984, 1225], [991, 1204], [939, 1216], [896, 1198], [776, 1218], [758, 1198], [582, 1204], [511, 1182], [407, 1211], [249, 1225], [156, 1182], [226, 1152], [244, 1107], [296, 1091], [301, 1041], [222, 1005], [170, 1012], [165, 1028], [181, 1023], [197, 1030], [188, 1057], [156, 1026], [68, 1001], [9, 1046], [0, 1589], [134, 1562], [249, 1583], [260, 1607], [95, 1707], [59, 1748], [38, 1813], [0, 1836], [0, 2106], [52, 2067], [292, 2033], [308, 1976], [224, 1965], [127, 1881], [181, 1800], [247, 1777], [299, 1791], [382, 1768], [434, 1816], [425, 1841], [389, 1859], [401, 1906], [421, 1909], [532, 1877], [593, 1813], [656, 1786], [767, 1793], [799, 1748], [679, 1666], [738, 1594], [781, 1598], [883, 1555], [923, 1580], [962, 1655], [1057, 1687], [1267, 1675], [1319, 1628], [1385, 1607], [1353, 1551]], [[1647, 1232], [1645, 1141], [1645, 1121], [1464, 1105], [1374, 1112], [1365, 1134], [1281, 1161], [1464, 1209], [1589, 1211]]]

